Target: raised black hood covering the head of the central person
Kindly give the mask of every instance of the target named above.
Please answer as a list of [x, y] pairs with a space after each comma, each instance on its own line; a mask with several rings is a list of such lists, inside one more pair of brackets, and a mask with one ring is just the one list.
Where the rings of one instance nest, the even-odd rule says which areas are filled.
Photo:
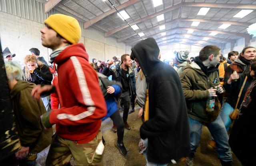
[[151, 73], [156, 70], [155, 66], [162, 63], [158, 59], [159, 53], [160, 49], [153, 38], [142, 40], [132, 47], [131, 58], [138, 60], [147, 82], [150, 80]]

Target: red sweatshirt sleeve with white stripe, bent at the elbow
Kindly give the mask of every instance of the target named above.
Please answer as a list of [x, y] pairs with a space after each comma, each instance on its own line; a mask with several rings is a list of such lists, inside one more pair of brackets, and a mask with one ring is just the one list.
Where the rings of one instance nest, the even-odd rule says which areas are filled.
[[73, 93], [72, 96], [78, 104], [52, 111], [50, 123], [76, 125], [98, 121], [106, 115], [106, 104], [98, 85], [98, 77], [96, 73], [91, 72], [90, 67], [82, 66], [77, 57], [73, 56], [70, 59], [72, 66], [67, 78], [70, 92], [67, 93]]

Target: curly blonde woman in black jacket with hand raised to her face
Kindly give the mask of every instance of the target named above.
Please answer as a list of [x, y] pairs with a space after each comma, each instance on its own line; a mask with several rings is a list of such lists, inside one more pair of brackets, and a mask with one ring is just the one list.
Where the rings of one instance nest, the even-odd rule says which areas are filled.
[[[35, 55], [26, 55], [24, 59], [25, 67], [23, 72], [25, 74], [25, 80], [36, 85], [51, 85], [52, 84], [52, 73], [48, 66], [36, 59]], [[46, 111], [50, 111], [50, 95], [41, 95], [42, 101]]]

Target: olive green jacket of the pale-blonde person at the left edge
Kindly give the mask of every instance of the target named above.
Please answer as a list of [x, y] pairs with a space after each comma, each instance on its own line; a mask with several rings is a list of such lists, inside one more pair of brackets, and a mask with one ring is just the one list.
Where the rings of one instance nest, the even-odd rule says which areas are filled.
[[22, 146], [29, 146], [30, 152], [40, 152], [52, 140], [52, 128], [44, 129], [40, 116], [46, 113], [42, 100], [31, 97], [34, 83], [19, 80], [11, 90], [12, 108], [16, 128]]

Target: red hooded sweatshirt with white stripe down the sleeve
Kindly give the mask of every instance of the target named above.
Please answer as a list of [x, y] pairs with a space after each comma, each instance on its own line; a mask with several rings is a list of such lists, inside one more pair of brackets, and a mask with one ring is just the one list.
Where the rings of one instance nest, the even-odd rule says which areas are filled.
[[107, 113], [96, 71], [82, 43], [66, 47], [54, 62], [58, 65], [60, 109], [51, 111], [50, 123], [56, 124], [58, 136], [88, 143], [98, 134]]

